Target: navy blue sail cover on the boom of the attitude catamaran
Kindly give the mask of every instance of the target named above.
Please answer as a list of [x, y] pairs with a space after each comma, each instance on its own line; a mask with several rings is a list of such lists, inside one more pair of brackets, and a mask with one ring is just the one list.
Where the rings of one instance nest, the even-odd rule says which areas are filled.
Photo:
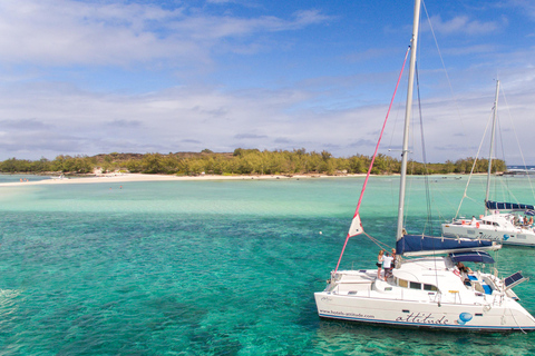
[[493, 241], [455, 239], [426, 235], [405, 235], [396, 243], [396, 251], [400, 255], [407, 253], [439, 251], [439, 250], [466, 250], [492, 247]]

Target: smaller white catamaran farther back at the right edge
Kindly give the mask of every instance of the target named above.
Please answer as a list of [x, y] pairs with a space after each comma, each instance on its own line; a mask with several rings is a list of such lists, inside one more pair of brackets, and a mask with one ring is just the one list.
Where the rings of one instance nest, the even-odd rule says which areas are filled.
[[487, 188], [485, 192], [485, 215], [480, 215], [478, 219], [474, 218], [468, 220], [465, 218], [454, 218], [451, 222], [441, 225], [442, 235], [446, 237], [457, 238], [464, 237], [471, 239], [488, 239], [493, 241], [499, 241], [504, 245], [535, 246], [535, 226], [533, 221], [535, 206], [488, 200], [490, 194], [498, 93], [499, 80], [496, 81], [496, 98], [494, 100], [490, 151], [488, 155]]

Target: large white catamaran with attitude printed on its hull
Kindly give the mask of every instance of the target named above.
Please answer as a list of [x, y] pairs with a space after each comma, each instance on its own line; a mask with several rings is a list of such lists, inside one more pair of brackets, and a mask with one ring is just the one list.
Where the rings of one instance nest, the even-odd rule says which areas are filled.
[[[383, 280], [378, 278], [377, 268], [338, 270], [337, 266], [325, 289], [314, 294], [318, 314], [322, 318], [401, 327], [475, 332], [534, 330], [535, 318], [517, 303], [517, 296], [510, 290], [525, 280], [522, 274], [499, 278], [496, 269], [493, 274], [468, 274], [456, 267], [456, 264], [463, 261], [494, 263], [484, 250], [497, 249], [499, 245], [405, 234], [405, 186], [419, 11], [420, 0], [416, 0], [402, 145], [396, 268], [392, 277]], [[367, 180], [364, 187], [366, 182]], [[363, 231], [359, 207], [360, 200], [346, 244], [350, 237]], [[439, 254], [445, 256], [438, 256]], [[409, 258], [416, 255], [420, 257]]]

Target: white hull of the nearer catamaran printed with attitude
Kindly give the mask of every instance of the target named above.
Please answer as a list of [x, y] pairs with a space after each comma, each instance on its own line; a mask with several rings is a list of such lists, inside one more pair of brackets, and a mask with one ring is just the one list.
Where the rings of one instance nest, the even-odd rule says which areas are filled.
[[376, 280], [377, 270], [342, 274], [350, 274], [353, 280], [330, 284], [314, 294], [322, 318], [479, 333], [535, 330], [535, 318], [504, 294], [410, 290], [392, 281]]

